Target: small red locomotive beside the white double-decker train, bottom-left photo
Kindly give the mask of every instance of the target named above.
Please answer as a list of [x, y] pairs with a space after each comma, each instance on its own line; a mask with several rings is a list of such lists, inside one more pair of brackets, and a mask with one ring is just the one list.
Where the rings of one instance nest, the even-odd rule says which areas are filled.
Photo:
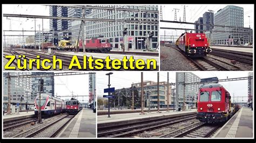
[[77, 99], [71, 98], [69, 101], [66, 101], [66, 111], [70, 115], [75, 115], [81, 109], [82, 109], [82, 105], [80, 104], [80, 102]]

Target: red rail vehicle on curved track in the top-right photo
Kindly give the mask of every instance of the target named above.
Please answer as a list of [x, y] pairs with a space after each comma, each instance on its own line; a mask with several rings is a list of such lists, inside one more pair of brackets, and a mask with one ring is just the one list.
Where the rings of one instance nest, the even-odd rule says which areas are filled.
[[202, 57], [212, 52], [204, 33], [183, 33], [176, 45], [190, 57]]

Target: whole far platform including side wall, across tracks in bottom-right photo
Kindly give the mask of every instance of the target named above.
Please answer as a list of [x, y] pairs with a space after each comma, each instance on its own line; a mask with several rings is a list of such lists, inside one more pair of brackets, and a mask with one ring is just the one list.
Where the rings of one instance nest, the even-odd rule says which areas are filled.
[[104, 126], [111, 126], [113, 125], [122, 125], [122, 124], [128, 124], [128, 123], [135, 123], [138, 120], [148, 120], [150, 119], [157, 119], [157, 118], [168, 118], [168, 117], [176, 117], [180, 115], [190, 115], [193, 113], [197, 113], [197, 109], [191, 109], [191, 111], [172, 111], [169, 112], [166, 111], [160, 111], [157, 113], [154, 112], [144, 112], [144, 115], [140, 115], [140, 113], [120, 113], [118, 115], [110, 115], [110, 118], [108, 115], [104, 116], [98, 116], [97, 117], [97, 126], [98, 127], [104, 127]]

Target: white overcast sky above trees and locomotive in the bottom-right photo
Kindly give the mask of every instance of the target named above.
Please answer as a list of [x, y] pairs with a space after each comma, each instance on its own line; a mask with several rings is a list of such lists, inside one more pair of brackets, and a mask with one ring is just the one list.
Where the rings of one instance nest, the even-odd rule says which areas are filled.
[[[108, 88], [107, 84], [109, 82], [108, 76], [105, 74], [109, 73], [107, 71], [102, 71], [97, 73], [97, 96], [102, 97], [104, 95], [104, 88]], [[140, 72], [139, 71], [113, 71], [113, 74], [110, 75], [110, 84], [111, 87], [115, 89], [120, 88], [129, 88], [131, 87], [132, 82], [138, 83], [140, 82]], [[236, 78], [236, 77], [246, 77], [248, 76], [247, 71], [192, 71], [192, 73], [196, 74], [200, 78], [208, 78], [208, 77], [218, 77], [219, 80], [228, 78]], [[169, 82], [176, 82], [176, 73], [174, 71], [169, 72]], [[144, 71], [143, 72], [143, 80], [151, 80], [157, 82], [157, 72], [155, 71]], [[159, 80], [167, 81], [167, 72], [161, 71], [159, 74]], [[230, 82], [220, 82], [225, 89], [227, 89], [232, 97], [234, 96], [247, 96], [248, 92], [248, 80], [241, 81], [230, 81]], [[106, 95], [107, 93], [105, 93]], [[237, 99], [237, 97], [235, 97]], [[239, 98], [241, 101], [242, 98]], [[247, 101], [247, 98], [244, 98], [244, 101]]]

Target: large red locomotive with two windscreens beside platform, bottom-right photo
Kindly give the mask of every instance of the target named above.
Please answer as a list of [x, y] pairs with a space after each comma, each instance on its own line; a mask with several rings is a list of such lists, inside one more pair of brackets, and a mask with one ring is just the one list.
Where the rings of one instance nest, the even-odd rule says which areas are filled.
[[206, 84], [200, 88], [197, 106], [197, 119], [205, 123], [227, 121], [239, 110], [237, 105], [231, 105], [230, 93], [219, 83]]

